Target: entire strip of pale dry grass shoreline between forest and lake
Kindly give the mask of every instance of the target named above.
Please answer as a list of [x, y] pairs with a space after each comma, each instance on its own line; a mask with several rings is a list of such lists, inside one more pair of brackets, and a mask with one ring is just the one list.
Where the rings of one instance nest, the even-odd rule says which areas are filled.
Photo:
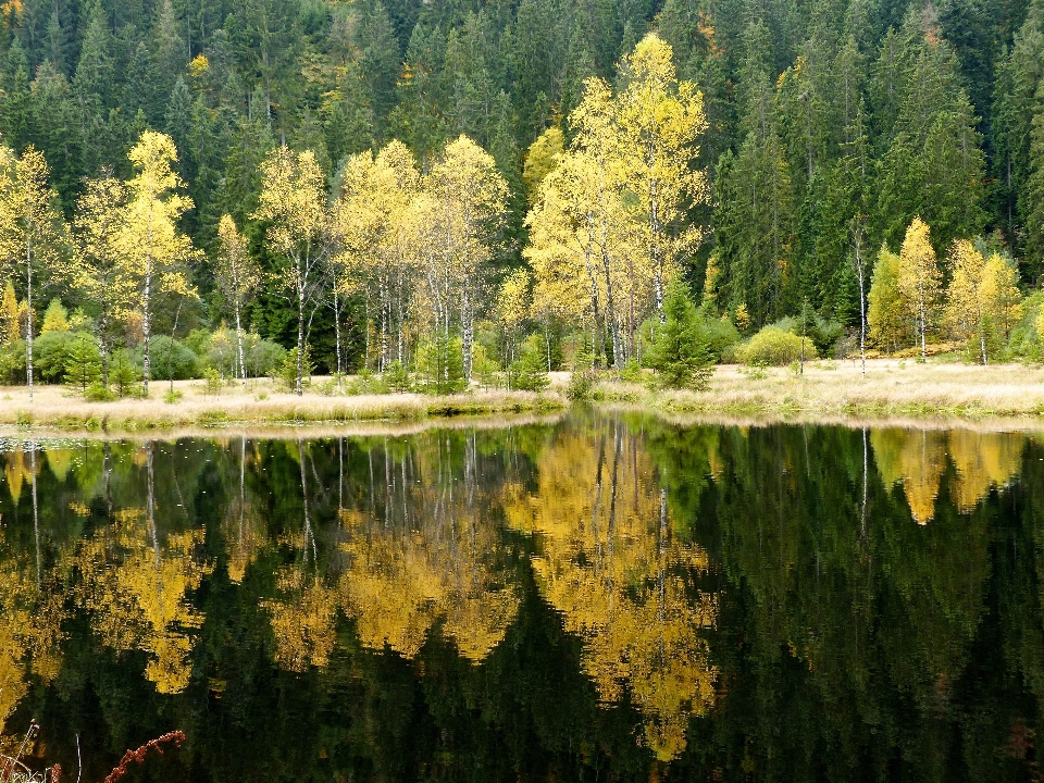
[[[62, 386], [39, 386], [28, 402], [24, 386], [0, 387], [0, 435], [28, 433], [140, 435], [251, 432], [278, 436], [303, 431], [399, 432], [432, 425], [511, 425], [558, 414], [569, 373], [551, 373], [540, 393], [473, 389], [459, 395], [324, 395], [281, 393], [268, 381], [224, 387], [206, 395], [202, 382], [175, 382], [182, 393], [171, 405], [156, 397], [88, 402]], [[163, 394], [166, 382], [156, 384]], [[1044, 428], [1044, 368], [991, 366], [896, 359], [859, 363], [817, 361], [805, 374], [791, 368], [718, 366], [708, 389], [649, 390], [639, 383], [600, 380], [592, 403], [599, 408], [648, 412], [678, 423], [823, 423], [846, 426], [946, 426], [983, 424], [991, 428]], [[465, 423], [467, 422], [467, 423]]]

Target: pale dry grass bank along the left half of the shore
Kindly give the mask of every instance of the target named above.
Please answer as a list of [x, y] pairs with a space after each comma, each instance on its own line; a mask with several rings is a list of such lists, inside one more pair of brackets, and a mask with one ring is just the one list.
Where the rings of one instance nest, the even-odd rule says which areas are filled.
[[209, 396], [200, 382], [175, 382], [183, 393], [164, 402], [169, 385], [154, 384], [150, 399], [88, 402], [60, 386], [39, 386], [33, 402], [22, 386], [0, 387], [0, 427], [46, 427], [75, 432], [198, 430], [226, 425], [300, 425], [306, 423], [418, 422], [430, 418], [546, 412], [564, 407], [556, 391], [481, 391], [428, 397], [415, 394], [302, 397], [276, 390], [268, 382], [246, 389], [225, 387]]

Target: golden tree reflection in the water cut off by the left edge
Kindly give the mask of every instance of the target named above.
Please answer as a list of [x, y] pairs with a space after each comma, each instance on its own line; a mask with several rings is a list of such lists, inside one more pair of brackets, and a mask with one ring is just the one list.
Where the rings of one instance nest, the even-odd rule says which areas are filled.
[[60, 593], [41, 587], [34, 567], [5, 551], [0, 531], [0, 735], [28, 689], [28, 672], [44, 682], [58, 676], [64, 617]]

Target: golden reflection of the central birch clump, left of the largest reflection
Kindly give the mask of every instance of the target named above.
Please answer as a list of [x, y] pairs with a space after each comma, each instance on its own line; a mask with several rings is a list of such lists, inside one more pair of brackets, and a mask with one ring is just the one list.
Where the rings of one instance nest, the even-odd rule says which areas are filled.
[[398, 513], [395, 524], [377, 522], [371, 512], [341, 513], [348, 533], [341, 548], [350, 566], [340, 592], [365, 646], [415, 656], [428, 629], [444, 618], [460, 654], [477, 662], [504, 639], [519, 596], [498, 564], [497, 529], [476, 507], [474, 442], [465, 445], [461, 482], [437, 438], [394, 464], [384, 455], [386, 475], [394, 478], [383, 508], [386, 519]]

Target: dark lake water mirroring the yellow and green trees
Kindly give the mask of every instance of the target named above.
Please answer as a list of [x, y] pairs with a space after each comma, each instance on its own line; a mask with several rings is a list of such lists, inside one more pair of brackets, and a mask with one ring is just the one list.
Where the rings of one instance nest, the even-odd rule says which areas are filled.
[[1039, 778], [1031, 436], [2, 448], [0, 734], [66, 780]]

